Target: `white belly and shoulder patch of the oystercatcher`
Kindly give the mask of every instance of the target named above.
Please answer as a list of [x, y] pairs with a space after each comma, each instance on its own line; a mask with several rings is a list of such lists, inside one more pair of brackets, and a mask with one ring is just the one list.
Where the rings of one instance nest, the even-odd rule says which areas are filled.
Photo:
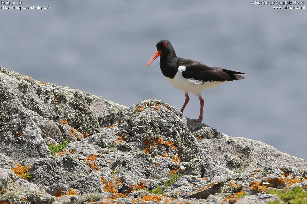
[[226, 82], [226, 81], [212, 81], [212, 82], [204, 82], [193, 80], [193, 79], [187, 79], [182, 76], [182, 69], [178, 69], [177, 74], [173, 79], [169, 77], [165, 77], [169, 83], [173, 85], [173, 87], [176, 87], [177, 89], [180, 89], [185, 92], [191, 92], [192, 94], [196, 96], [200, 96], [200, 92], [204, 89], [213, 89], [216, 86]]

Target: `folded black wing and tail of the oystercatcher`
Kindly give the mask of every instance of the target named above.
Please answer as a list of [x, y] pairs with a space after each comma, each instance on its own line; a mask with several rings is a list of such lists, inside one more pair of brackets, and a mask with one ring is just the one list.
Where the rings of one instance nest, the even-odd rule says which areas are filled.
[[242, 72], [235, 72], [220, 67], [209, 67], [201, 62], [178, 58], [178, 66], [185, 66], [185, 71], [182, 76], [185, 78], [192, 78], [199, 81], [232, 81], [238, 79], [244, 79], [239, 74], [245, 74]]

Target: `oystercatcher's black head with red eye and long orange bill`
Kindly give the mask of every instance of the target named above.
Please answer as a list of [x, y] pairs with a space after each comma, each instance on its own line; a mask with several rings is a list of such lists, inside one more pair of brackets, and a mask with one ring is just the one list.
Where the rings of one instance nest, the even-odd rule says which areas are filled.
[[177, 57], [171, 42], [168, 40], [160, 40], [157, 43], [157, 52], [153, 55], [153, 57], [151, 57], [150, 61], [147, 63], [147, 66], [149, 66], [160, 55], [161, 57]]

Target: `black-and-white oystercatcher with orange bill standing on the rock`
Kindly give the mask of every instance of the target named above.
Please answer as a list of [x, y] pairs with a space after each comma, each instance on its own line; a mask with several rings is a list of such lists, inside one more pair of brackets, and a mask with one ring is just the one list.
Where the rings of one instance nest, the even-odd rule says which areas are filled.
[[165, 78], [177, 89], [185, 92], [185, 103], [181, 112], [189, 102], [188, 93], [196, 95], [200, 101], [199, 118], [195, 121], [203, 120], [204, 99], [201, 98], [201, 91], [213, 89], [226, 81], [244, 79], [245, 74], [235, 72], [220, 67], [209, 67], [198, 61], [177, 57], [172, 44], [168, 40], [160, 40], [157, 43], [157, 52], [147, 63], [149, 66], [157, 57], [160, 56], [160, 69]]

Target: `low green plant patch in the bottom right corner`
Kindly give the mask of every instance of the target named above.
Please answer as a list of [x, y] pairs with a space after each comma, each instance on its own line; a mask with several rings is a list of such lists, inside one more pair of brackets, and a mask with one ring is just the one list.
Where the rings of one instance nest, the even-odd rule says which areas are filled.
[[[307, 192], [303, 188], [296, 186], [290, 190], [286, 188], [282, 190], [270, 190], [270, 194], [277, 195], [283, 202], [292, 204], [303, 204], [307, 202]], [[268, 202], [270, 204], [278, 204], [283, 202]]]

